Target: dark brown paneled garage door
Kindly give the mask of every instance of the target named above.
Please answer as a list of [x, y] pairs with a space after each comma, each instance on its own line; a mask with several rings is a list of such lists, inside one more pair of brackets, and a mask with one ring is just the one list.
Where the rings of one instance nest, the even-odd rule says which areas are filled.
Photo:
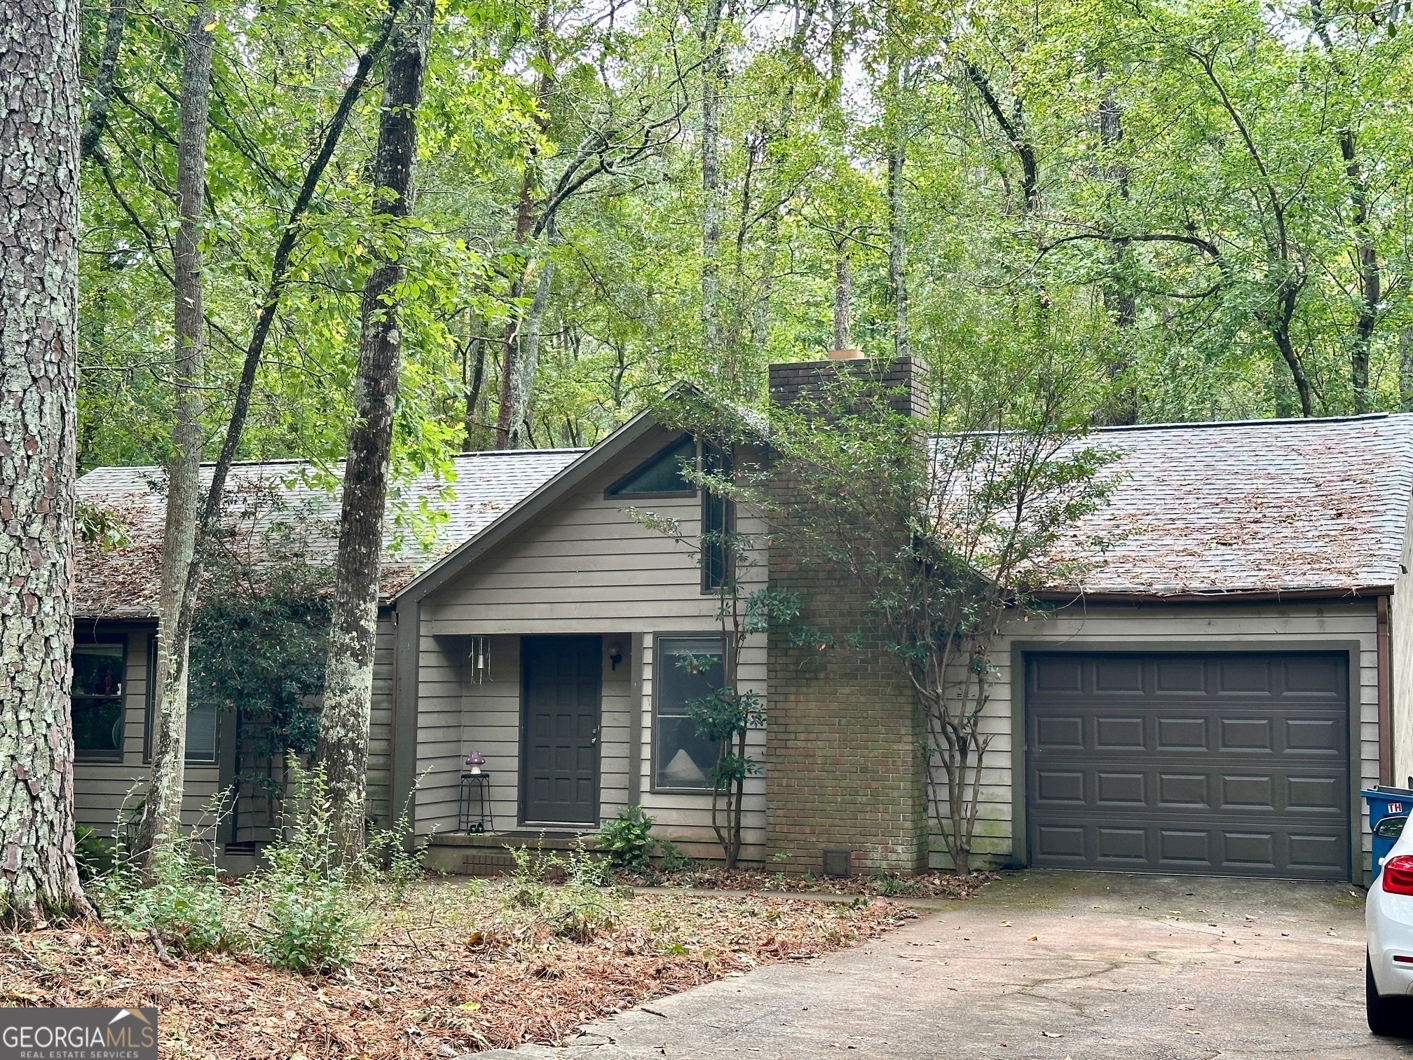
[[1349, 878], [1348, 656], [1031, 654], [1030, 862]]

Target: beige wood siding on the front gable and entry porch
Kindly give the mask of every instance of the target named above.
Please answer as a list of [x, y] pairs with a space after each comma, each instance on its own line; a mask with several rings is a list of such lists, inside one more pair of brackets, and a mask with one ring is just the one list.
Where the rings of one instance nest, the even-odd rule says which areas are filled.
[[[617, 500], [603, 495], [609, 483], [657, 452], [671, 437], [658, 432], [601, 469], [572, 496], [422, 601], [418, 772], [432, 772], [418, 789], [420, 832], [425, 834], [434, 824], [442, 831], [455, 827], [455, 784], [461, 758], [471, 749], [465, 743], [454, 746], [452, 734], [461, 732], [462, 724], [458, 717], [465, 718], [468, 739], [475, 732], [473, 739], [486, 743], [476, 749], [486, 755], [487, 769], [495, 773], [497, 827], [516, 820], [520, 653], [514, 637], [602, 633], [605, 644], [619, 642], [625, 661], [617, 671], [606, 663], [603, 673], [599, 815], [610, 817], [629, 804], [630, 773], [636, 773], [640, 801], [657, 818], [660, 835], [690, 844], [694, 854], [719, 855], [711, 831], [709, 794], [651, 790], [653, 636], [718, 633], [716, 599], [702, 594], [701, 571], [688, 548], [627, 513], [636, 506], [677, 519], [682, 533], [695, 540], [701, 529], [701, 503], [695, 497]], [[738, 527], [743, 533], [762, 529], [746, 513], [738, 514]], [[763, 585], [764, 577], [762, 551], [759, 563], [742, 571], [746, 591]], [[459, 644], [472, 635], [492, 636], [496, 680], [483, 685], [468, 685], [448, 659], [448, 652], [462, 650]], [[633, 657], [634, 640], [643, 643], [640, 659]], [[642, 681], [637, 702], [632, 694], [634, 678]], [[742, 684], [764, 697], [763, 637], [752, 639], [742, 657]], [[634, 709], [636, 748], [629, 739], [634, 731]], [[753, 758], [760, 760], [763, 734], [752, 735], [752, 748]], [[746, 832], [745, 854], [759, 858], [764, 841], [764, 783], [760, 777], [747, 782]]]

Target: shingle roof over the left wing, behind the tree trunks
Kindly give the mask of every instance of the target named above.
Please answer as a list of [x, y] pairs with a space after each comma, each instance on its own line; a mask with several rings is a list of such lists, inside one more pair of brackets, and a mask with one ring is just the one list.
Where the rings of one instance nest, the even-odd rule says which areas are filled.
[[[389, 520], [383, 527], [383, 599], [431, 567], [503, 513], [514, 507], [585, 449], [502, 449], [452, 458], [456, 478], [431, 473], [390, 490]], [[342, 475], [342, 462], [335, 465]], [[211, 466], [202, 468], [205, 482]], [[341, 493], [326, 489], [312, 465], [300, 461], [236, 464], [227, 481], [229, 523], [250, 561], [273, 563], [276, 553], [298, 546], [311, 558], [332, 557]], [[79, 500], [114, 512], [127, 543], [103, 551], [81, 544], [75, 563], [75, 615], [81, 618], [153, 618], [161, 571], [165, 522], [164, 468], [96, 468], [78, 481]], [[394, 500], [396, 497], [396, 500]], [[427, 534], [394, 524], [398, 513], [422, 506], [442, 522]]]

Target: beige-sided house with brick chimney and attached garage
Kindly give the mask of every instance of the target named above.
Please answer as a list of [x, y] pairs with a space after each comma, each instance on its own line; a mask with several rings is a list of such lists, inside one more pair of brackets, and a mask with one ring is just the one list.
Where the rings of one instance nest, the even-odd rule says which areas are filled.
[[[900, 410], [918, 408], [906, 360], [774, 366], [771, 397], [838, 370], [901, 384]], [[1091, 442], [1116, 454], [1119, 485], [1080, 537], [1112, 544], [1080, 584], [1046, 587], [1051, 612], [1003, 632], [978, 851], [995, 864], [1364, 879], [1358, 790], [1413, 773], [1413, 712], [1400, 709], [1413, 702], [1413, 416], [1111, 428]], [[674, 660], [719, 653], [719, 570], [643, 517], [680, 520], [688, 537], [733, 517], [682, 481], [680, 462], [698, 458], [650, 413], [588, 451], [465, 455], [435, 541], [389, 557], [369, 808], [387, 820], [410, 804], [434, 865], [485, 871], [506, 834], [552, 841], [630, 804], [711, 855], [714, 749], [687, 718], [699, 690]], [[100, 469], [79, 489], [138, 510], [144, 475]], [[141, 510], [160, 529], [161, 495], [148, 493]], [[81, 564], [92, 635], [75, 650], [93, 653], [95, 674], [106, 660], [126, 673], [122, 750], [78, 770], [93, 824], [141, 779], [154, 626], [136, 581], [155, 578], [155, 547], [148, 530], [129, 550], [146, 560]], [[105, 596], [93, 587], [109, 565], [137, 575]], [[859, 608], [848, 584], [779, 550], [739, 574], [800, 589], [805, 619]], [[763, 773], [746, 786], [743, 859], [796, 872], [942, 864], [918, 711], [894, 660], [866, 642], [808, 652], [771, 632], [740, 657], [767, 718], [750, 734]], [[103, 674], [95, 687], [112, 691]], [[209, 756], [188, 770], [195, 813], [237, 770], [226, 715], [189, 724], [216, 732], [189, 741]], [[471, 750], [486, 759], [476, 784], [499, 835], [461, 834]], [[479, 787], [472, 797], [479, 820]]]

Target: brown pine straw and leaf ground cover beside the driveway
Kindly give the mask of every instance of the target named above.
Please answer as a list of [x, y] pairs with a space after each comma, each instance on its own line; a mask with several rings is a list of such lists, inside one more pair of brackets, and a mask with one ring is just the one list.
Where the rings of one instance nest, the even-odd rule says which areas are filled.
[[756, 965], [853, 946], [917, 914], [886, 899], [603, 892], [610, 926], [558, 937], [557, 888], [438, 882], [389, 899], [346, 974], [250, 957], [165, 962], [103, 924], [0, 936], [0, 1003], [160, 1009], [164, 1060], [448, 1057], [560, 1043], [579, 1025]]

